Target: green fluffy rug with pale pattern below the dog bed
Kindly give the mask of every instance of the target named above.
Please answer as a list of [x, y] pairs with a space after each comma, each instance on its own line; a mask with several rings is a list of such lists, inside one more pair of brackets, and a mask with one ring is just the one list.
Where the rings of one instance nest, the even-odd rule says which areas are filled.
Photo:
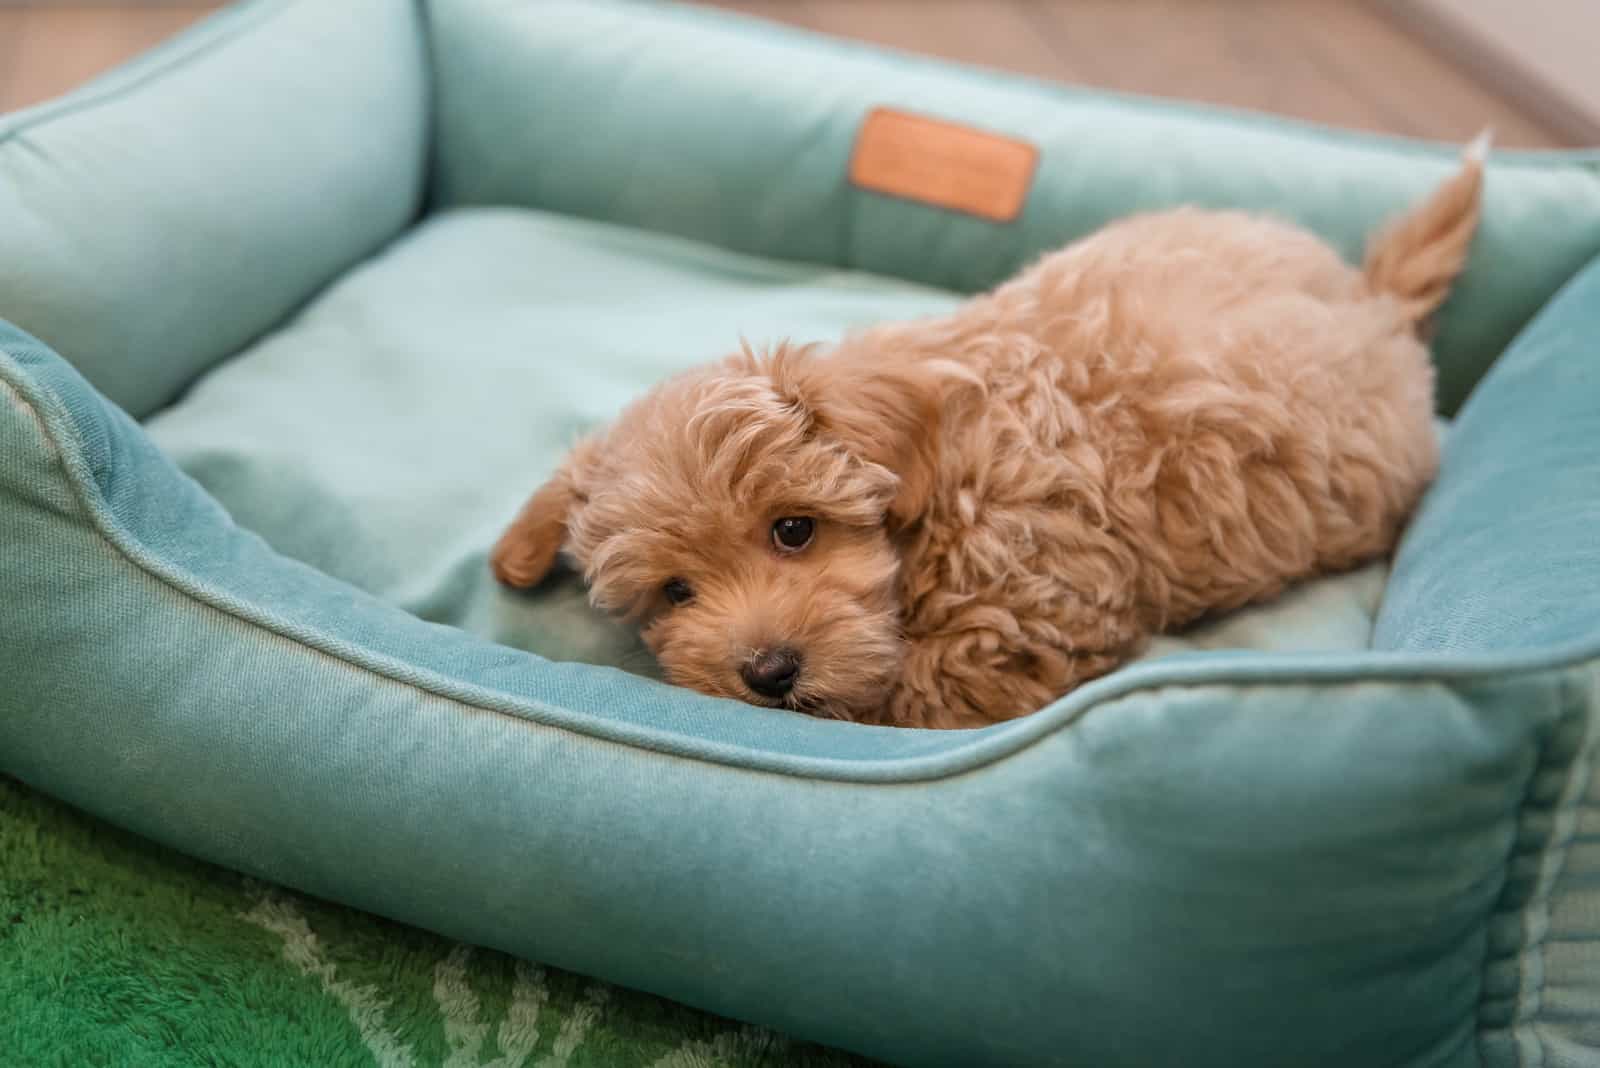
[[269, 887], [0, 777], [0, 1065], [866, 1062]]

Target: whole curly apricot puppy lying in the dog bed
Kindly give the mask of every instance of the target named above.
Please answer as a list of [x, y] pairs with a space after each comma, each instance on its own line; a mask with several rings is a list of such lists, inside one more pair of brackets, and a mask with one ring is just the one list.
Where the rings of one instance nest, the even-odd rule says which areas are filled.
[[565, 550], [669, 679], [819, 716], [1021, 716], [1146, 640], [1387, 553], [1434, 476], [1419, 329], [1483, 147], [1346, 265], [1237, 213], [1115, 222], [944, 318], [674, 377], [491, 555]]

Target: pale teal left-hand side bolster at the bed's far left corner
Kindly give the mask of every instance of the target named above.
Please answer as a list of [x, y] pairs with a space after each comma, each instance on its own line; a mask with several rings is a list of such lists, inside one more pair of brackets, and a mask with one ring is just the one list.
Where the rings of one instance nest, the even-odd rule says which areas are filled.
[[419, 14], [259, 0], [0, 115], [0, 317], [136, 416], [418, 211]]

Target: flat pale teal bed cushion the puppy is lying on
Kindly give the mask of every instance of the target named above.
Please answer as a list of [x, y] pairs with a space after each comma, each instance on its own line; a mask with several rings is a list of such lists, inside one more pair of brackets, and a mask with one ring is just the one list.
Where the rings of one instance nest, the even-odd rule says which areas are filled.
[[[147, 430], [277, 552], [427, 620], [654, 673], [574, 576], [504, 590], [486, 547], [582, 430], [659, 377], [755, 342], [830, 341], [957, 296], [526, 209], [432, 216], [229, 360]], [[1362, 649], [1387, 566], [1184, 635]]]

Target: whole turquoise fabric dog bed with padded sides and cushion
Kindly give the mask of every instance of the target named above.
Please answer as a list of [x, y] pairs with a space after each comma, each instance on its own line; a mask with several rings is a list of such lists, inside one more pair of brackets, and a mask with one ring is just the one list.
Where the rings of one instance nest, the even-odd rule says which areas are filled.
[[[1035, 145], [1021, 214], [851, 182], [875, 107]], [[1178, 201], [1354, 256], [1453, 166], [690, 10], [232, 8], [0, 120], [0, 771], [898, 1062], [1594, 1063], [1597, 155], [1491, 166], [1392, 571], [1035, 715], [701, 697], [483, 563], [581, 428], [741, 331], [946, 309]]]

